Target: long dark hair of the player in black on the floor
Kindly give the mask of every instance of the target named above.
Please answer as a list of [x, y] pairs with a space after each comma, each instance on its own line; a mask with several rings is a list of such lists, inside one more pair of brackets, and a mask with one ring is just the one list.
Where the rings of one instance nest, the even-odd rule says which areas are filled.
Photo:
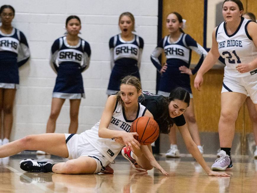
[[174, 121], [169, 116], [169, 103], [174, 99], [182, 100], [183, 102], [187, 103], [189, 106], [190, 94], [184, 88], [177, 87], [170, 92], [169, 97], [163, 98], [161, 103], [161, 106], [163, 108], [163, 113], [157, 121], [159, 124], [161, 133], [168, 134], [170, 132], [170, 127], [172, 127], [174, 124]]

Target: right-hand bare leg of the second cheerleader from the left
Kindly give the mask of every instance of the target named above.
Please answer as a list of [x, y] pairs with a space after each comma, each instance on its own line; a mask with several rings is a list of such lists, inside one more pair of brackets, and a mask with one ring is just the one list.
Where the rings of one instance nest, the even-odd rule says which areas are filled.
[[72, 99], [70, 102], [70, 124], [69, 133], [76, 133], [78, 129], [78, 114], [80, 108], [80, 99]]

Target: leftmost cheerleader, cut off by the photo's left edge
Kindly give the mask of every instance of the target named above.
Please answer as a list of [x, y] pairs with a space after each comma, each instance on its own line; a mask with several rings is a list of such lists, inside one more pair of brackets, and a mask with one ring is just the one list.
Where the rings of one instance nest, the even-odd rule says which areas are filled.
[[[30, 57], [25, 35], [12, 27], [14, 14], [14, 8], [10, 5], [0, 8], [0, 145], [8, 143], [10, 139], [14, 97], [19, 86], [18, 68]], [[4, 131], [3, 140], [1, 128]]]

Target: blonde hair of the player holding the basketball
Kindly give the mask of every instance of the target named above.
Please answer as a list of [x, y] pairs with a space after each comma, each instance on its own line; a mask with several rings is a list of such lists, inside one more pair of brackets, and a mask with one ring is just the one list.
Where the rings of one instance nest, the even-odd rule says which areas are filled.
[[[139, 78], [135, 77], [135, 76], [125, 76], [121, 80], [121, 83], [120, 83], [119, 87], [121, 87], [121, 85], [132, 85], [137, 89], [137, 92], [142, 90], [141, 82], [140, 82]], [[121, 96], [120, 96], [120, 91], [118, 91], [116, 93], [116, 95], [117, 95], [117, 100], [122, 104], [122, 106], [124, 106], [124, 102], [123, 102], [123, 100], [121, 99]], [[142, 93], [141, 93], [141, 95], [144, 97], [144, 95]]]

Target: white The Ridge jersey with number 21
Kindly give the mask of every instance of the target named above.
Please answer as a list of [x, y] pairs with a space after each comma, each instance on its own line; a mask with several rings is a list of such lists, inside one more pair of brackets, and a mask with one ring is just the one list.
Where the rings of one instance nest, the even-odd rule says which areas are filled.
[[217, 27], [216, 40], [219, 54], [225, 59], [224, 74], [226, 76], [245, 77], [257, 73], [257, 69], [245, 73], [236, 70], [237, 64], [249, 63], [257, 57], [257, 48], [247, 32], [249, 22], [252, 21], [242, 17], [240, 25], [232, 35], [227, 34], [225, 22]]

